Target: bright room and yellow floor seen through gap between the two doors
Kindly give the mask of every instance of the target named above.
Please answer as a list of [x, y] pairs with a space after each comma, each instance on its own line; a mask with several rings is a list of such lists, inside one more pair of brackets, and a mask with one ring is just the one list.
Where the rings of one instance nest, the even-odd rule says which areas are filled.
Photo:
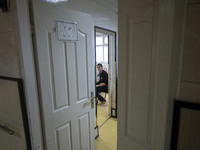
[[[96, 66], [102, 64], [108, 73], [108, 91], [101, 92], [106, 100], [101, 102], [96, 96], [96, 125], [99, 135], [96, 149], [117, 149], [117, 101], [116, 101], [116, 32], [95, 27]], [[100, 73], [96, 69], [96, 83]]]

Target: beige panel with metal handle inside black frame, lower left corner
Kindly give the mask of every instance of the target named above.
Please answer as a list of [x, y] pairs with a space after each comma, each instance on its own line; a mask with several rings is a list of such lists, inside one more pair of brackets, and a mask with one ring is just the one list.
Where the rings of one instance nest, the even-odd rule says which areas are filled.
[[20, 91], [16, 79], [0, 77], [0, 149], [2, 150], [27, 150]]

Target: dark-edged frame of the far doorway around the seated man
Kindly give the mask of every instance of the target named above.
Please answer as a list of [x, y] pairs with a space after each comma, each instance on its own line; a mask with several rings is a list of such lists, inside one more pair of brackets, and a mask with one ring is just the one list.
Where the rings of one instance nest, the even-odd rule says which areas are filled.
[[[101, 32], [101, 33], [108, 34], [109, 36], [112, 36], [114, 38], [114, 44], [112, 43], [113, 44], [112, 46], [114, 46], [113, 61], [116, 62], [116, 72], [115, 72], [115, 75], [116, 75], [116, 80], [115, 80], [115, 82], [116, 82], [116, 89], [115, 89], [116, 104], [115, 105], [116, 106], [115, 106], [115, 108], [113, 108], [113, 106], [114, 106], [113, 96], [114, 95], [111, 97], [111, 95], [109, 94], [109, 97], [111, 98], [110, 99], [110, 108], [109, 108], [109, 110], [110, 110], [110, 117], [117, 118], [117, 76], [118, 76], [118, 74], [117, 74], [117, 66], [118, 66], [118, 59], [117, 59], [117, 37], [116, 37], [117, 34], [116, 34], [115, 31], [112, 31], [112, 30], [109, 30], [109, 29], [106, 29], [106, 28], [102, 28], [102, 27], [99, 27], [99, 26], [94, 26], [95, 66], [96, 66], [96, 32], [97, 32], [97, 30], [99, 30], [99, 32]], [[110, 40], [109, 40], [109, 37], [108, 37], [108, 44], [109, 44], [109, 41]], [[109, 64], [110, 64], [110, 44], [108, 45], [108, 65]], [[111, 68], [109, 67], [109, 71], [110, 70], [111, 70]], [[113, 68], [113, 70], [114, 70], [114, 68]], [[113, 74], [112, 74], [111, 77], [114, 78], [114, 72], [113, 72]], [[114, 80], [113, 80], [113, 82], [114, 82]], [[108, 93], [109, 93], [111, 90], [110, 90], [110, 88], [108, 90], [109, 90], [108, 91]], [[114, 90], [114, 88], [112, 90]], [[96, 108], [96, 112], [97, 112], [97, 108]]]

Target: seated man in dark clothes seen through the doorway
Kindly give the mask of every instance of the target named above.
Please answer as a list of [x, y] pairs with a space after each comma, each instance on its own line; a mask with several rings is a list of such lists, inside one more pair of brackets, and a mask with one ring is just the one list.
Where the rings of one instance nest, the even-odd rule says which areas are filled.
[[108, 93], [108, 73], [103, 70], [101, 63], [97, 64], [100, 80], [96, 83], [96, 96], [101, 102], [106, 100], [100, 95], [101, 92]]

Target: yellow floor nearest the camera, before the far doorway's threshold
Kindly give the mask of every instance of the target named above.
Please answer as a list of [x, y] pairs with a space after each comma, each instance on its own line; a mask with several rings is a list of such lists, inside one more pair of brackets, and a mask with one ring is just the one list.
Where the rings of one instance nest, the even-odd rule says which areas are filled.
[[117, 150], [117, 119], [110, 118], [100, 129], [95, 140], [96, 150]]

